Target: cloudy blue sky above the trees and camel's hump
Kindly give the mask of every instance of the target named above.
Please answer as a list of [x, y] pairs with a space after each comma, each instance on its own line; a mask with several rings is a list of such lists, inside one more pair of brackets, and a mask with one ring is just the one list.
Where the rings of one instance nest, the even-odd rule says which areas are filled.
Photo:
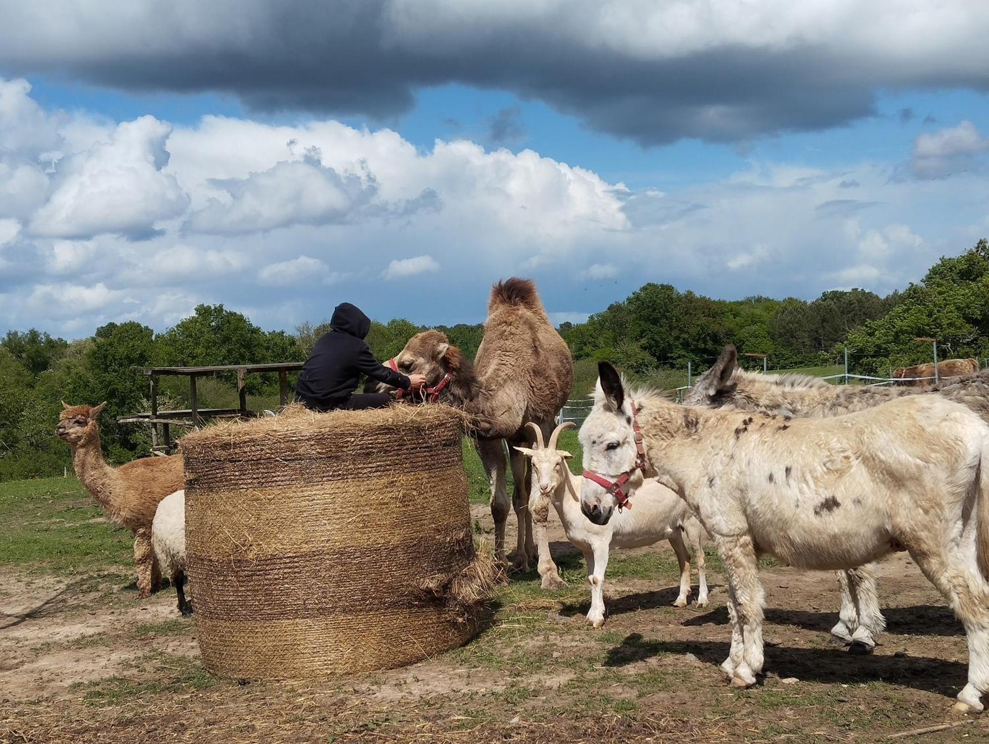
[[984, 0], [0, 0], [0, 331], [879, 294], [989, 236]]

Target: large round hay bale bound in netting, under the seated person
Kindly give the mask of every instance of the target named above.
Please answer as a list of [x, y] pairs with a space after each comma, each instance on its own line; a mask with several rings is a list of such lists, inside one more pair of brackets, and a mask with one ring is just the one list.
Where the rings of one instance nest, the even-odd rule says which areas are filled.
[[298, 679], [460, 646], [491, 587], [476, 558], [463, 416], [446, 406], [220, 424], [181, 441], [206, 667]]

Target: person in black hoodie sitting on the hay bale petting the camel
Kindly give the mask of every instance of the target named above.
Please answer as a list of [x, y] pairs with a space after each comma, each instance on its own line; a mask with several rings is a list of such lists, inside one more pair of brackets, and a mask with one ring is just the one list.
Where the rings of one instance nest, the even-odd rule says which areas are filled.
[[375, 361], [364, 340], [371, 329], [371, 319], [350, 303], [333, 309], [332, 327], [315, 342], [296, 382], [296, 400], [313, 411], [359, 411], [382, 409], [391, 403], [384, 393], [354, 395], [363, 373], [394, 388], [410, 390], [425, 384], [422, 375], [406, 377]]

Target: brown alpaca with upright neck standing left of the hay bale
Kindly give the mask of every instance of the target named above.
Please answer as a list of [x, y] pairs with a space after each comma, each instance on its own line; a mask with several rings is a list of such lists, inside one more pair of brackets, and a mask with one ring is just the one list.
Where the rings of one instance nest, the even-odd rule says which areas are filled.
[[149, 457], [113, 468], [103, 459], [96, 418], [107, 404], [96, 408], [69, 406], [58, 417], [55, 432], [72, 448], [72, 467], [82, 485], [115, 524], [134, 532], [137, 592], [150, 597], [160, 582], [151, 550], [151, 520], [158, 502], [185, 487], [182, 455]]

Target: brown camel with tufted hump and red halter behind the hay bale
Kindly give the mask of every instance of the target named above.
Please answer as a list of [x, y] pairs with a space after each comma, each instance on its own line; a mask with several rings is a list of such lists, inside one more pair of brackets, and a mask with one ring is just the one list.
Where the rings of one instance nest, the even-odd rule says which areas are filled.
[[[436, 388], [449, 374], [444, 399], [473, 417], [472, 435], [488, 473], [494, 516], [494, 553], [505, 560], [504, 531], [508, 519], [505, 446], [528, 445], [528, 421], [549, 436], [574, 384], [574, 359], [566, 341], [550, 323], [535, 285], [511, 278], [492, 288], [485, 335], [471, 365], [437, 330], [417, 333], [393, 360], [404, 374], [425, 375]], [[376, 388], [379, 391], [388, 388]], [[536, 556], [532, 515], [528, 511], [525, 456], [510, 449], [514, 482], [512, 506], [518, 519], [513, 568], [529, 570]], [[549, 545], [540, 545], [549, 554]], [[560, 582], [557, 586], [565, 586]]]

